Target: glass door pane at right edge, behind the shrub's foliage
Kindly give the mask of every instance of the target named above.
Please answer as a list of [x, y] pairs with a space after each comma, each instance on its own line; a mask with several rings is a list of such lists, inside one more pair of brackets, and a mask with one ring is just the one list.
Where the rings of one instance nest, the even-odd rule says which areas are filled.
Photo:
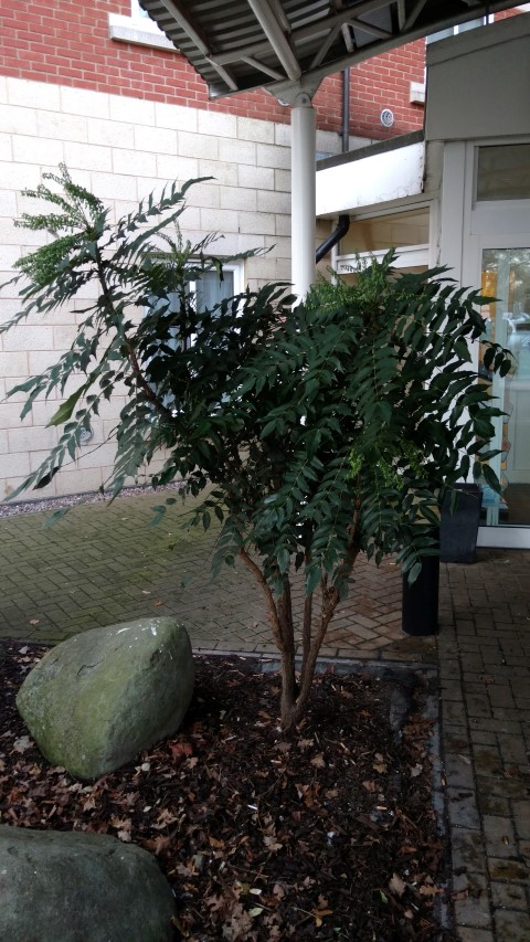
[[491, 465], [501, 481], [496, 494], [483, 481], [483, 526], [530, 527], [530, 248], [484, 248], [483, 293], [495, 300], [483, 308], [485, 339], [511, 350], [505, 379], [491, 377], [479, 353], [479, 382], [488, 383], [506, 413], [496, 420]]

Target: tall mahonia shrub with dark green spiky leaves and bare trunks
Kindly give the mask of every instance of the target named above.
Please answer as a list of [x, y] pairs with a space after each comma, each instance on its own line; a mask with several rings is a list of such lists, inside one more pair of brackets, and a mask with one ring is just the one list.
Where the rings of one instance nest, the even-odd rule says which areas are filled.
[[[64, 167], [29, 193], [53, 212], [19, 224], [50, 241], [18, 263], [22, 307], [0, 330], [53, 317], [89, 285], [94, 300], [59, 362], [11, 390], [26, 393], [24, 415], [38, 395], [78, 383], [50, 417], [56, 447], [18, 493], [74, 461], [100, 403], [125, 385], [109, 496], [161, 452], [155, 487], [182, 479], [184, 497], [203, 493], [193, 522], [219, 519], [214, 569], [241, 561], [265, 594], [289, 729], [359, 552], [378, 564], [395, 553], [413, 581], [438, 551], [447, 489], [469, 474], [498, 488], [487, 443], [500, 412], [469, 352], [485, 299], [444, 269], [400, 275], [389, 253], [353, 285], [317, 284], [303, 304], [272, 284], [205, 307], [190, 284], [212, 271], [222, 279], [223, 264], [212, 236], [192, 245], [178, 229], [193, 182], [117, 223]], [[506, 374], [508, 351], [490, 343], [485, 366]], [[299, 623], [295, 574], [306, 588]]]

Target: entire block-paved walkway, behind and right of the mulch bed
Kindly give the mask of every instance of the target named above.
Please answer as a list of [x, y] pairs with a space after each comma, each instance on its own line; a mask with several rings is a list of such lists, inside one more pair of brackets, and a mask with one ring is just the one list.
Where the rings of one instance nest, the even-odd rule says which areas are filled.
[[[0, 636], [57, 642], [97, 625], [177, 614], [197, 649], [271, 653], [246, 570], [212, 583], [212, 534], [183, 508], [149, 527], [157, 497], [0, 519]], [[301, 589], [297, 592], [301, 602]], [[530, 940], [530, 552], [442, 565], [437, 638], [401, 631], [391, 561], [362, 562], [322, 654], [439, 670], [442, 792], [462, 942]]]

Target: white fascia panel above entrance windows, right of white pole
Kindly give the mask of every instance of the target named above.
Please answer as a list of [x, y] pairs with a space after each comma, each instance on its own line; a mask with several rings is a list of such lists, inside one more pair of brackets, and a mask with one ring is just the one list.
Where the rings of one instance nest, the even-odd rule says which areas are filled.
[[317, 216], [423, 192], [423, 141], [317, 171]]

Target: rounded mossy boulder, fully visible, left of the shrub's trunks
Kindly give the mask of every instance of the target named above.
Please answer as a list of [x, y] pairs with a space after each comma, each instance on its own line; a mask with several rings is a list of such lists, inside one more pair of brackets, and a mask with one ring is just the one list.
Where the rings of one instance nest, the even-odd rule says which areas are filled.
[[52, 648], [17, 706], [51, 763], [97, 779], [178, 730], [193, 680], [186, 628], [174, 618], [140, 618]]

